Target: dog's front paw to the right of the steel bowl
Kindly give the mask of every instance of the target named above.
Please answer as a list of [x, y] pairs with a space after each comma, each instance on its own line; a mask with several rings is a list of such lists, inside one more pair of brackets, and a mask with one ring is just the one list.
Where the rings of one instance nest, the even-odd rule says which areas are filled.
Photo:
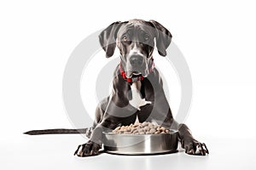
[[207, 145], [204, 143], [200, 143], [195, 139], [189, 139], [183, 141], [183, 149], [189, 155], [195, 156], [206, 156], [209, 154], [209, 150], [207, 149]]

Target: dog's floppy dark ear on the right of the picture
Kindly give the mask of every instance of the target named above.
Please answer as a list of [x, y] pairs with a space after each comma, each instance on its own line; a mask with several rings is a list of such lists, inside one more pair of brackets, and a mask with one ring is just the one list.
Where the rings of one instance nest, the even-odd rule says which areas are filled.
[[149, 22], [152, 23], [155, 28], [155, 40], [158, 53], [161, 56], [166, 56], [166, 48], [168, 48], [171, 43], [172, 34], [164, 26], [160, 25], [159, 22], [155, 20], [149, 20]]

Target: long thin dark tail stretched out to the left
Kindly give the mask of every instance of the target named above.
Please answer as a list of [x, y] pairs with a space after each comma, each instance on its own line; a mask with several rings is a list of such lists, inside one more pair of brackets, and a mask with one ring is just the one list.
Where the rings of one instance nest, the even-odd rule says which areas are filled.
[[44, 130], [32, 130], [27, 131], [24, 134], [38, 135], [38, 134], [72, 134], [72, 133], [84, 133], [90, 138], [92, 133], [92, 127], [78, 128], [78, 129], [67, 129], [67, 128], [54, 128], [54, 129], [44, 129]]

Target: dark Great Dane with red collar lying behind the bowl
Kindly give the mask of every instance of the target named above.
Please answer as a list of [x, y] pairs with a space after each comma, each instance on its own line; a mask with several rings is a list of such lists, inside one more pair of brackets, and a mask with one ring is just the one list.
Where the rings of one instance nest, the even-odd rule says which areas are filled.
[[[155, 42], [154, 42], [155, 40]], [[155, 20], [113, 22], [99, 35], [106, 57], [119, 49], [120, 64], [113, 75], [113, 90], [96, 107], [93, 126], [84, 129], [49, 129], [27, 134], [86, 133], [90, 138], [75, 150], [76, 156], [96, 156], [102, 147], [102, 133], [106, 129], [130, 125], [134, 122], [156, 122], [163, 127], [177, 129], [178, 139], [185, 153], [206, 156], [207, 145], [196, 140], [183, 123], [172, 116], [159, 71], [154, 67], [154, 43], [161, 56], [172, 41], [172, 34]]]

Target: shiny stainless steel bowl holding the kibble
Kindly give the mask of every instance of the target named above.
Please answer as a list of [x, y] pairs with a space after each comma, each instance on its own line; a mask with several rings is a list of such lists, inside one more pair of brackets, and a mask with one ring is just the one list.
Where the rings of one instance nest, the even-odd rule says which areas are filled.
[[120, 155], [151, 155], [175, 152], [177, 131], [160, 134], [113, 134], [104, 132], [104, 150]]

